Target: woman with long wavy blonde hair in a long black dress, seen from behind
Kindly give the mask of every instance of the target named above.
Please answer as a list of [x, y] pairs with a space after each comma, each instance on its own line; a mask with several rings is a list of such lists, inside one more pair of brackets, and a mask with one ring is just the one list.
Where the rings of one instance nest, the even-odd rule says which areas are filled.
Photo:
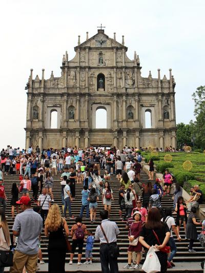
[[69, 236], [69, 228], [65, 219], [61, 217], [60, 208], [57, 204], [50, 207], [45, 221], [45, 236], [48, 242], [48, 272], [65, 273], [66, 262], [66, 236]]

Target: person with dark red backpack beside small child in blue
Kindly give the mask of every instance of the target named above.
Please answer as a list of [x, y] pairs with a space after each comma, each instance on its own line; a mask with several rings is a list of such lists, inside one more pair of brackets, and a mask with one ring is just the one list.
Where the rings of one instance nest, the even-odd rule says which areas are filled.
[[70, 254], [69, 265], [73, 264], [73, 257], [75, 254], [76, 247], [78, 247], [78, 262], [77, 265], [81, 265], [81, 258], [84, 246], [84, 238], [88, 235], [87, 228], [85, 224], [82, 224], [82, 218], [76, 217], [75, 223], [71, 227], [70, 235], [72, 237], [72, 249]]

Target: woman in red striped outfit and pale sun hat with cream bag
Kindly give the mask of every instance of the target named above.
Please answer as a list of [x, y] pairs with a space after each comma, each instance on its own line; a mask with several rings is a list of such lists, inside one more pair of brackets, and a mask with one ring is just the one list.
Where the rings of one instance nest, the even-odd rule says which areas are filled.
[[129, 247], [128, 247], [128, 264], [124, 266], [124, 269], [132, 269], [132, 254], [133, 252], [137, 253], [136, 265], [134, 269], [139, 269], [139, 262], [141, 259], [141, 244], [138, 241], [139, 233], [141, 232], [142, 228], [142, 221], [141, 221], [141, 214], [140, 212], [135, 212], [133, 214], [134, 222], [131, 224], [129, 229], [128, 239], [129, 239]]

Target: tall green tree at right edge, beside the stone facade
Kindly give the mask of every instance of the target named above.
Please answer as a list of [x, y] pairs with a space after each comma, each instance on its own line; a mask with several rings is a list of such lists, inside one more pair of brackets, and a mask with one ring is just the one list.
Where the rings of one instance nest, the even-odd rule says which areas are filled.
[[205, 147], [205, 86], [200, 86], [192, 95], [194, 115], [196, 116], [195, 132], [197, 146]]

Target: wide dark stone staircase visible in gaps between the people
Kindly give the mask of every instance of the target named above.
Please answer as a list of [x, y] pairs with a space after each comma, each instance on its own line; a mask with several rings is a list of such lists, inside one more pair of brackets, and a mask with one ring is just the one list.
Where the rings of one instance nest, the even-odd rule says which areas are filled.
[[[104, 171], [101, 171], [101, 174], [104, 174]], [[54, 199], [55, 199], [55, 203], [57, 203], [60, 207], [61, 207], [61, 185], [60, 185], [60, 173], [57, 173], [57, 176], [54, 175], [53, 176], [53, 194], [54, 194]], [[148, 181], [148, 176], [146, 173], [141, 172], [141, 182], [142, 183], [146, 183]], [[19, 176], [17, 175], [9, 175], [9, 176], [4, 176], [4, 185], [5, 185], [5, 191], [6, 191], [6, 195], [8, 198], [7, 201], [7, 209], [6, 209], [6, 215], [7, 215], [7, 220], [8, 220], [8, 225], [10, 228], [10, 232], [12, 234], [12, 225], [13, 225], [13, 220], [11, 217], [11, 206], [10, 206], [10, 200], [11, 200], [11, 185], [13, 182], [17, 182], [19, 185]], [[154, 181], [152, 181], [154, 183]], [[111, 175], [111, 188], [113, 190], [113, 197], [114, 197], [114, 201], [112, 201], [112, 207], [111, 207], [111, 216], [110, 216], [110, 220], [111, 221], [115, 221], [120, 229], [120, 234], [117, 238], [117, 243], [120, 247], [120, 257], [118, 258], [118, 262], [119, 263], [127, 263], [127, 249], [128, 249], [128, 230], [125, 229], [125, 222], [122, 222], [119, 219], [119, 205], [118, 205], [118, 190], [119, 190], [119, 181], [117, 181], [115, 175]], [[74, 200], [74, 202], [72, 203], [72, 213], [74, 216], [78, 216], [79, 212], [80, 212], [80, 208], [81, 208], [81, 191], [83, 190], [83, 185], [82, 184], [76, 184], [76, 199]], [[21, 194], [20, 194], [21, 195]], [[101, 197], [101, 196], [100, 196]], [[101, 198], [100, 198], [101, 200]], [[173, 207], [173, 201], [172, 201], [172, 196], [165, 196], [162, 198], [162, 207]], [[95, 229], [96, 226], [100, 223], [99, 220], [99, 211], [100, 209], [103, 209], [104, 206], [101, 202], [98, 202], [98, 207], [97, 207], [97, 219], [96, 222], [94, 222], [94, 224], [90, 223], [89, 219], [86, 219], [86, 215], [84, 212], [84, 217], [83, 217], [83, 222], [86, 224], [87, 229], [92, 230], [93, 234], [95, 233]], [[63, 216], [63, 215], [62, 215]], [[174, 216], [176, 217], [176, 216]], [[74, 224], [74, 219], [68, 219], [67, 220], [69, 228], [71, 228], [71, 226]], [[201, 227], [197, 226], [197, 230], [198, 233], [200, 233]], [[188, 240], [185, 239], [185, 231], [183, 229], [183, 227], [180, 228], [180, 236], [182, 238], [181, 242], [176, 241], [176, 245], [177, 245], [177, 254], [174, 258], [174, 262], [175, 263], [184, 263], [186, 265], [186, 267], [184, 267], [183, 269], [187, 269], [189, 270], [189, 267], [187, 268], [187, 262], [192, 264], [192, 268], [193, 265], [199, 265], [200, 262], [202, 260], [204, 260], [204, 251], [199, 243], [199, 241], [195, 242], [194, 244], [194, 249], [196, 250], [196, 253], [189, 253], [188, 252]], [[176, 236], [174, 234], [174, 238], [176, 240]], [[47, 245], [48, 245], [48, 238], [45, 237], [44, 232], [42, 232], [42, 237], [41, 237], [41, 249], [42, 249], [42, 253], [43, 253], [43, 260], [45, 262], [48, 262], [48, 251], [47, 251]], [[77, 255], [74, 256], [74, 260], [73, 262], [76, 263], [76, 257]], [[144, 258], [143, 258], [144, 259]], [[67, 255], [66, 258], [66, 263], [69, 262], [69, 255]], [[85, 247], [84, 247], [84, 251], [83, 251], [83, 259], [82, 262], [85, 261]], [[99, 263], [99, 243], [95, 242], [94, 243], [94, 248], [93, 248], [93, 262], [94, 263]], [[45, 267], [44, 267], [45, 268]], [[198, 267], [197, 267], [198, 268]], [[172, 272], [178, 272], [176, 270], [171, 269]], [[130, 271], [130, 270], [129, 270]], [[135, 272], [137, 272], [139, 270], [135, 270]], [[200, 270], [190, 270], [190, 271], [194, 271], [194, 272], [199, 272]], [[40, 272], [47, 272], [47, 270], [40, 270]], [[73, 272], [83, 272], [83, 270], [79, 270], [79, 271], [75, 271], [73, 270]], [[92, 272], [100, 272], [100, 266], [99, 266], [99, 270], [96, 271], [92, 271]], [[126, 272], [126, 270], [124, 270], [124, 272]], [[202, 272], [202, 271], [201, 271]], [[57, 272], [56, 272], [57, 273]]]

